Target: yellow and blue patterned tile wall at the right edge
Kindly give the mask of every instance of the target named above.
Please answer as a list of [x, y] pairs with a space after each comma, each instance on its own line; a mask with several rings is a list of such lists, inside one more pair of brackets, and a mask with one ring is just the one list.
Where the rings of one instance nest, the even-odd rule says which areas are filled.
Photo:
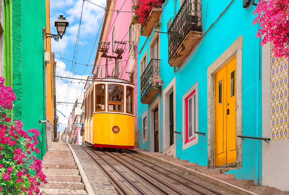
[[289, 138], [288, 113], [288, 59], [271, 53], [271, 141]]

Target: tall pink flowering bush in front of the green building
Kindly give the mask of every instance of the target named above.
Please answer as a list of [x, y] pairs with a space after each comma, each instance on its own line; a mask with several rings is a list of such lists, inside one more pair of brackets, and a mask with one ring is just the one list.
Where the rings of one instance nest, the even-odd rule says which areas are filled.
[[41, 171], [41, 160], [31, 152], [39, 153], [36, 147], [39, 132], [22, 129], [21, 120], [12, 121], [13, 100], [11, 87], [4, 86], [0, 77], [0, 195], [42, 195], [38, 186], [46, 183]]

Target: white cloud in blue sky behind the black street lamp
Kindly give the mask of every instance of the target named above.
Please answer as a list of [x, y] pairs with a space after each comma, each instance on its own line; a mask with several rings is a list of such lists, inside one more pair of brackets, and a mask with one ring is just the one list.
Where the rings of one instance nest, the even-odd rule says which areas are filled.
[[[105, 7], [106, 1], [105, 0], [90, 0], [90, 2]], [[82, 12], [82, 22], [81, 22], [81, 29], [80, 29], [80, 37], [79, 37], [79, 45], [84, 45], [87, 43], [87, 39], [91, 37], [95, 37], [98, 32], [98, 28], [100, 27], [100, 23], [104, 14], [104, 9], [100, 8], [92, 3], [85, 1], [83, 5], [83, 12]], [[79, 20], [82, 10], [82, 0], [62, 0], [53, 4], [51, 1], [51, 9], [58, 9], [61, 6], [64, 7], [67, 11], [65, 13], [54, 13], [50, 16], [50, 24], [51, 24], [51, 32], [56, 32], [54, 27], [54, 21], [57, 20], [57, 17], [62, 14], [69, 22], [69, 26], [67, 27], [66, 33], [59, 41], [60, 49], [62, 53], [65, 52], [67, 47], [74, 47], [76, 43], [76, 37], [79, 28]], [[72, 6], [72, 7], [71, 7]], [[63, 9], [63, 10], [64, 10]], [[52, 51], [59, 51], [59, 46], [56, 41], [51, 41], [51, 48]], [[62, 54], [61, 53], [61, 54]]]

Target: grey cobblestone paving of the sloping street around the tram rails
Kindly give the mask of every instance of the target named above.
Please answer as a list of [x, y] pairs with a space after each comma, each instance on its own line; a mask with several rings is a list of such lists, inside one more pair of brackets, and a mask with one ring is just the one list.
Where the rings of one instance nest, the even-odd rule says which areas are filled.
[[[95, 163], [91, 160], [91, 158], [85, 152], [83, 152], [81, 150], [81, 148], [79, 148], [78, 146], [71, 145], [71, 147], [75, 151], [95, 194], [99, 194], [99, 195], [118, 194], [117, 191], [115, 190], [115, 188], [113, 187], [113, 185], [110, 183], [110, 181], [107, 179], [107, 177], [101, 172], [101, 170], [95, 165]], [[91, 148], [91, 147], [89, 147], [89, 148]], [[101, 155], [104, 157], [104, 154], [101, 154], [100, 151], [96, 151], [96, 153], [98, 155]], [[154, 182], [157, 186], [162, 188], [164, 191], [168, 192], [168, 194], [200, 194], [200, 193], [193, 191], [188, 187], [180, 185], [179, 182], [173, 181], [172, 179], [168, 178], [167, 175], [169, 175], [171, 177], [176, 177], [179, 181], [182, 181], [183, 183], [185, 183], [191, 187], [194, 187], [195, 189], [197, 189], [201, 192], [204, 192], [205, 194], [237, 195], [237, 193], [226, 190], [222, 187], [219, 187], [219, 186], [212, 184], [208, 181], [200, 179], [196, 176], [190, 175], [190, 174], [188, 174], [188, 173], [186, 173], [180, 169], [177, 169], [171, 165], [160, 163], [156, 160], [152, 160], [152, 159], [143, 157], [139, 154], [126, 154], [123, 152], [120, 154], [116, 153], [116, 152], [110, 152], [109, 154], [112, 154], [112, 155], [117, 154], [119, 156], [119, 158], [123, 158], [123, 160], [128, 160], [129, 162], [132, 162], [133, 164], [141, 167], [145, 171], [145, 173], [154, 175], [156, 178], [154, 178], [154, 179], [149, 178], [149, 180]], [[105, 156], [105, 159], [108, 162], [112, 163], [114, 167], [116, 167], [118, 170], [120, 170], [121, 174], [123, 174], [125, 177], [129, 178], [129, 180], [132, 181], [135, 185], [137, 185], [143, 192], [145, 192], [145, 194], [162, 194], [162, 193], [160, 193], [160, 191], [158, 191], [158, 190], [154, 189], [152, 186], [148, 185], [139, 176], [135, 175], [132, 172], [132, 170], [129, 171], [124, 165], [118, 164], [117, 162], [113, 162], [114, 160], [109, 159], [108, 156]], [[165, 175], [163, 175], [159, 172], [154, 171], [153, 169], [151, 169], [147, 166], [142, 165], [140, 162], [137, 162], [137, 160], [141, 160], [142, 163], [148, 164], [149, 166], [151, 166], [151, 168], [157, 169], [157, 166], [163, 167], [168, 172], [164, 171]], [[104, 165], [103, 162], [99, 162], [99, 163], [101, 163], [102, 166]], [[130, 166], [136, 172], [141, 173], [141, 176], [146, 177], [146, 178], [148, 177], [147, 174], [144, 174], [142, 171], [139, 171], [137, 168], [131, 166], [128, 162], [126, 163], [126, 165]], [[105, 167], [107, 168], [106, 165], [105, 165]], [[117, 174], [115, 174], [115, 172], [113, 172], [113, 171], [108, 171], [108, 172], [110, 172], [110, 174], [113, 175], [113, 177], [117, 178], [117, 181], [120, 182], [121, 185], [124, 186], [123, 187], [124, 189], [129, 191], [129, 194], [138, 194], [135, 192], [134, 189], [132, 189], [131, 186], [129, 186], [129, 184], [127, 184], [125, 181], [123, 181], [122, 178], [120, 178]], [[169, 173], [169, 172], [172, 172], [172, 173]], [[210, 190], [206, 190], [203, 187], [197, 186], [194, 183], [189, 182], [188, 180], [185, 180], [183, 178], [180, 179], [178, 176], [173, 175], [173, 174], [181, 175], [182, 177], [185, 177], [191, 181], [194, 181], [197, 184], [200, 184], [200, 185], [202, 185], [202, 186], [204, 186], [210, 190], [214, 190], [217, 193], [211, 192]], [[158, 182], [156, 179], [160, 179], [160, 181], [165, 181], [167, 184], [173, 186], [176, 190], [179, 190], [180, 193], [169, 189], [161, 182]]]

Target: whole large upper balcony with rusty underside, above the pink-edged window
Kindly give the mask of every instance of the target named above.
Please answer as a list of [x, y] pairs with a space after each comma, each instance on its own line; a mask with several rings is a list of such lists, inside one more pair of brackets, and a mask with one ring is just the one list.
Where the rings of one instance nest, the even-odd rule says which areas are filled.
[[200, 0], [186, 0], [168, 30], [170, 66], [180, 66], [200, 40], [202, 32]]

